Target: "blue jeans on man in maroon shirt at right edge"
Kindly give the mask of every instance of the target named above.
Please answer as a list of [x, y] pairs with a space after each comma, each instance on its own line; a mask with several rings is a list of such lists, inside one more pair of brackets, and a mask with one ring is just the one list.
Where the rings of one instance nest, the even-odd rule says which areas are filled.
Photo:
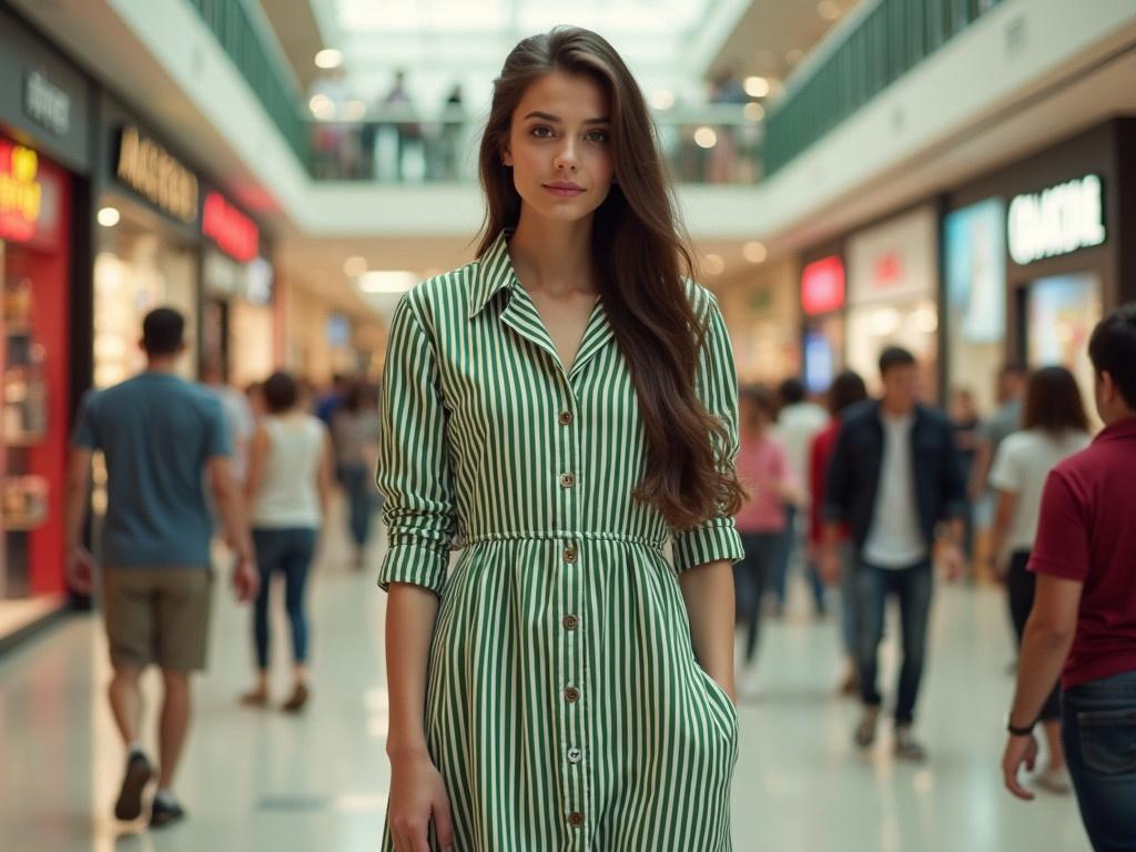
[[1061, 736], [1096, 852], [1136, 851], [1136, 671], [1061, 694]]

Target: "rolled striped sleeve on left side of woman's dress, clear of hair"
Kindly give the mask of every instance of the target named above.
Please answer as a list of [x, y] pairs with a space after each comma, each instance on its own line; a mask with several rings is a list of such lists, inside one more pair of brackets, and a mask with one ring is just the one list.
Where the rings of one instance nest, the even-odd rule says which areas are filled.
[[389, 546], [378, 585], [440, 594], [456, 527], [453, 476], [434, 345], [412, 295], [399, 302], [386, 346], [375, 482]]

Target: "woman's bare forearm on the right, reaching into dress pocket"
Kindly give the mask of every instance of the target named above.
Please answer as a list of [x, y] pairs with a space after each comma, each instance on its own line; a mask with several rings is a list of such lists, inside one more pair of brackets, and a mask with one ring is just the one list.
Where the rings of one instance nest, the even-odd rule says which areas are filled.
[[734, 698], [734, 570], [728, 561], [684, 571], [678, 585], [691, 621], [694, 655]]

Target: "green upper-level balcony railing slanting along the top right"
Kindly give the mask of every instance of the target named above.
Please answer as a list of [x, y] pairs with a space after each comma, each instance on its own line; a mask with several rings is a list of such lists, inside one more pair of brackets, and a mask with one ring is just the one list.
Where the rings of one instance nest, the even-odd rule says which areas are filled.
[[859, 12], [790, 78], [770, 110], [766, 173], [783, 168], [999, 2], [877, 0]]

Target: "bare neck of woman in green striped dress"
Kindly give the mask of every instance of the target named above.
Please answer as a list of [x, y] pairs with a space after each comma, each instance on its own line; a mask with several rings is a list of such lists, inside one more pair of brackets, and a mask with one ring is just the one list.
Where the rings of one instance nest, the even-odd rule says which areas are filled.
[[552, 222], [521, 211], [509, 240], [509, 256], [526, 289], [558, 295], [595, 292], [592, 269], [592, 219]]

